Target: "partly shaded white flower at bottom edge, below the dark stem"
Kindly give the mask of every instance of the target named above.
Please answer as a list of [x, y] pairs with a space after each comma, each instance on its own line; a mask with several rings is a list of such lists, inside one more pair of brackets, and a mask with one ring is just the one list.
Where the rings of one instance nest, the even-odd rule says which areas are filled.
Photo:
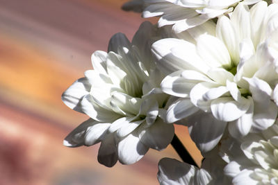
[[158, 182], [162, 185], [229, 185], [231, 181], [223, 172], [225, 164], [217, 155], [204, 159], [201, 168], [163, 158], [158, 163]]

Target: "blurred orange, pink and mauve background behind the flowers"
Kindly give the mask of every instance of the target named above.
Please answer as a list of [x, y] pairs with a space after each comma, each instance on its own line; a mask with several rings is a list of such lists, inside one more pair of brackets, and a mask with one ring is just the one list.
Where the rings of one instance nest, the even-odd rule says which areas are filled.
[[[66, 148], [63, 139], [88, 116], [60, 96], [92, 69], [115, 33], [133, 37], [140, 14], [122, 0], [0, 0], [0, 184], [158, 184], [159, 159], [179, 159], [172, 146], [149, 150], [138, 163], [98, 164], [99, 145]], [[176, 132], [199, 164], [186, 127]]]

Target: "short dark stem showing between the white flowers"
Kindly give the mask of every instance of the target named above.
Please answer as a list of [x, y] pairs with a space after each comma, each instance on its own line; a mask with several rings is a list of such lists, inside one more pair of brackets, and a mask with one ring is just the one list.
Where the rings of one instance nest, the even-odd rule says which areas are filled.
[[197, 166], [195, 163], [194, 159], [191, 157], [191, 155], [188, 153], [186, 148], [183, 146], [179, 138], [177, 137], [176, 134], [174, 134], [174, 138], [171, 142], [171, 145], [173, 146], [174, 150], [178, 153], [179, 157], [183, 160], [183, 162], [186, 162], [188, 164], [191, 164], [193, 166]]

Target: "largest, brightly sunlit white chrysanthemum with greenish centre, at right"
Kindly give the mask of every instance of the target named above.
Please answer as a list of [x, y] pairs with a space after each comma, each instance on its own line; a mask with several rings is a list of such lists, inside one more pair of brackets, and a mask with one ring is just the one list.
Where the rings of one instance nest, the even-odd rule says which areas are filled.
[[215, 36], [200, 35], [196, 43], [161, 39], [153, 44], [158, 67], [170, 73], [161, 89], [179, 97], [168, 108], [167, 121], [189, 116], [190, 135], [202, 152], [218, 143], [227, 123], [237, 137], [275, 122], [277, 26], [278, 4], [261, 1], [250, 10], [239, 3], [230, 18], [218, 19]]

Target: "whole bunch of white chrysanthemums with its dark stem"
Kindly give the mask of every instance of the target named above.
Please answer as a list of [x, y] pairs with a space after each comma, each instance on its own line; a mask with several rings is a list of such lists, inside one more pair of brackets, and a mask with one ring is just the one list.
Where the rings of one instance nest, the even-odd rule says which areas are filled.
[[[62, 96], [87, 114], [69, 147], [101, 142], [105, 166], [133, 164], [170, 143], [160, 184], [278, 184], [278, 4], [260, 0], [133, 0], [124, 10], [160, 17], [132, 41], [115, 34], [93, 70]], [[198, 167], [173, 124], [188, 127]]]

